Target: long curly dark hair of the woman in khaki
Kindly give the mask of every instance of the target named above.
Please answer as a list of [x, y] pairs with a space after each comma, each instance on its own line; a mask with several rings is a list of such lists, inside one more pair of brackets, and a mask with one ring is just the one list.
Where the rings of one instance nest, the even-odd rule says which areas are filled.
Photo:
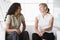
[[6, 18], [7, 18], [7, 15], [14, 15], [15, 14], [15, 11], [18, 9], [18, 7], [21, 8], [21, 4], [20, 3], [13, 3], [10, 8], [8, 9], [8, 12], [6, 14], [6, 17], [5, 17], [5, 20], [6, 21]]

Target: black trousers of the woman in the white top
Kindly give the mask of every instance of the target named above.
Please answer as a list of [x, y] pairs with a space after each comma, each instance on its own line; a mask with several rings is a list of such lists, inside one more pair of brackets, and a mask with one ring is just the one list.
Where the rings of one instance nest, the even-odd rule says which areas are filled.
[[53, 33], [47, 33], [47, 32], [45, 32], [43, 34], [43, 36], [39, 36], [36, 33], [33, 33], [32, 34], [32, 40], [42, 40], [42, 39], [45, 39], [45, 40], [54, 40], [55, 39], [55, 36], [54, 36]]

